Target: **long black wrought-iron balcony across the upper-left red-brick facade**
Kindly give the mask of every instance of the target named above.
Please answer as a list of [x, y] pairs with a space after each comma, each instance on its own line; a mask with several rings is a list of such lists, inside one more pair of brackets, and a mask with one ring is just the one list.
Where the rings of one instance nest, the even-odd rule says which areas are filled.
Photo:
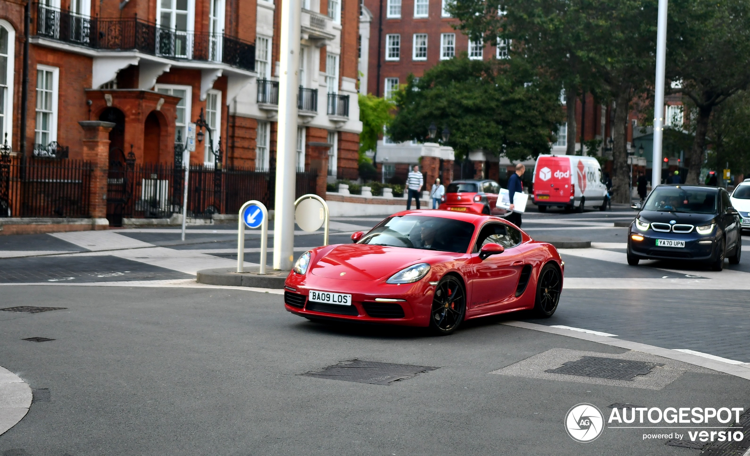
[[36, 35], [93, 49], [136, 50], [255, 70], [255, 45], [220, 33], [161, 28], [136, 17], [97, 19], [37, 4]]

